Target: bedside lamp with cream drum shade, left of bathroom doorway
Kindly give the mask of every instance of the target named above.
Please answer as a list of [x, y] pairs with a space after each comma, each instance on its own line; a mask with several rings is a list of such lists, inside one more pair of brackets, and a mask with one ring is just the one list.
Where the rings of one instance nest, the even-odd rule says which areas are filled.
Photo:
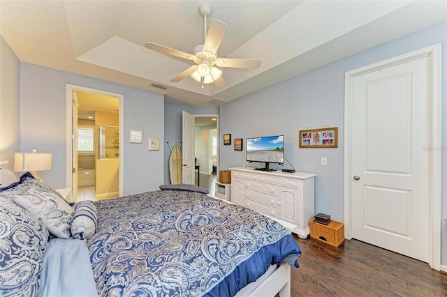
[[51, 169], [51, 153], [36, 153], [34, 149], [32, 153], [15, 153], [14, 155], [14, 171], [15, 172], [31, 172], [36, 180], [42, 182], [42, 178], [38, 176], [37, 171]]

